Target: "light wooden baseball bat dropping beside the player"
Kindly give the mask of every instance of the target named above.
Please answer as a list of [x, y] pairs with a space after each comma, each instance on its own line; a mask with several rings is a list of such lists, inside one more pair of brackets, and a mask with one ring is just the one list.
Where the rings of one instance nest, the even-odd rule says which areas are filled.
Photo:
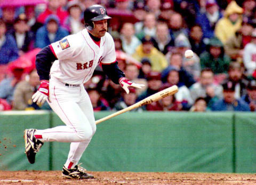
[[127, 111], [131, 111], [134, 108], [138, 108], [138, 107], [141, 107], [143, 105], [151, 104], [152, 102], [156, 102], [159, 99], [162, 99], [162, 98], [164, 98], [166, 96], [173, 95], [173, 94], [175, 94], [177, 92], [178, 92], [178, 87], [175, 86], [175, 85], [171, 86], [169, 88], [166, 88], [164, 90], [159, 91], [158, 93], [155, 93], [154, 95], [151, 95], [151, 96], [149, 96], [147, 98], [144, 98], [144, 99], [140, 100], [140, 102], [137, 102], [137, 103], [135, 103], [135, 104], [133, 104], [133, 105], [131, 105], [129, 107], [126, 107], [126, 108], [124, 108], [124, 109], [122, 109], [120, 111], [117, 111], [117, 112], [115, 112], [113, 114], [110, 114], [110, 115], [108, 115], [106, 117], [103, 117], [102, 119], [97, 120], [95, 123], [96, 124], [101, 123], [103, 121], [106, 121], [106, 120], [110, 119], [111, 117], [115, 117], [115, 116], [117, 116], [119, 114], [123, 114], [123, 113], [125, 113]]

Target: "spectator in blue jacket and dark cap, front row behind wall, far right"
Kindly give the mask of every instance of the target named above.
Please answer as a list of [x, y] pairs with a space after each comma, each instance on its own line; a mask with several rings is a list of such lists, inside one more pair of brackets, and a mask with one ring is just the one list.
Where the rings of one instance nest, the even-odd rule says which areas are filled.
[[250, 111], [247, 105], [241, 98], [235, 98], [235, 85], [228, 81], [223, 83], [223, 98], [219, 99], [212, 107], [212, 111]]

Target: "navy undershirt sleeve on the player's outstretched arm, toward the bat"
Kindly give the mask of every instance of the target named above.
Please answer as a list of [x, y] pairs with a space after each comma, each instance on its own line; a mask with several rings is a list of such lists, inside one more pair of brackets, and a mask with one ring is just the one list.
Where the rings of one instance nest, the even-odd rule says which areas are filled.
[[111, 64], [103, 64], [102, 70], [114, 83], [119, 84], [119, 78], [125, 77], [124, 72], [119, 69], [117, 61]]

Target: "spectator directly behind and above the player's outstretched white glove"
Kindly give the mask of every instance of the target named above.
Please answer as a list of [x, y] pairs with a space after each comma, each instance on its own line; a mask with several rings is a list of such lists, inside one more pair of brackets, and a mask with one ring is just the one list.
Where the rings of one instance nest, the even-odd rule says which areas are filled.
[[129, 79], [131, 82], [140, 83], [145, 85], [145, 87], [142, 87], [141, 89], [136, 89], [137, 95], [140, 95], [143, 91], [147, 89], [147, 80], [138, 78], [139, 77], [139, 68], [137, 65], [133, 63], [126, 64], [125, 70], [125, 77]]

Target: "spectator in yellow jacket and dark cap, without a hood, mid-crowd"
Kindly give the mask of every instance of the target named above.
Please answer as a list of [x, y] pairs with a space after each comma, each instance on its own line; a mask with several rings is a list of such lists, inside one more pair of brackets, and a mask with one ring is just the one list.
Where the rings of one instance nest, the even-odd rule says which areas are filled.
[[162, 72], [167, 67], [167, 60], [163, 53], [159, 52], [154, 47], [155, 40], [150, 36], [145, 36], [141, 40], [141, 45], [139, 45], [133, 57], [138, 61], [141, 61], [142, 58], [148, 58], [151, 62], [152, 71]]

